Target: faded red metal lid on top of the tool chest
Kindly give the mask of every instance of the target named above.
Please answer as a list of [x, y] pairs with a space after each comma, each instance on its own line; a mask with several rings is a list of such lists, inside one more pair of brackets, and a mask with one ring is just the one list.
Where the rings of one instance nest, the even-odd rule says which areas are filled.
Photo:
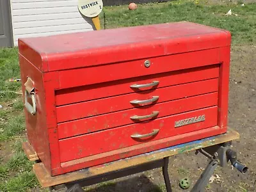
[[49, 72], [228, 45], [228, 31], [191, 22], [173, 22], [20, 38], [19, 53], [42, 72]]

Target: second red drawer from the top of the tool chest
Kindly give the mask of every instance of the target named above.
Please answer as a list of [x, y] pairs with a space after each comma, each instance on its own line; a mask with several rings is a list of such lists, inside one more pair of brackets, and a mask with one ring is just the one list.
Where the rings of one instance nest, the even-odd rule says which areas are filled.
[[[146, 90], [138, 93], [79, 102], [77, 104], [57, 107], [57, 122], [67, 122], [69, 120], [138, 108], [216, 91], [218, 91], [218, 78], [158, 88], [154, 91]], [[145, 103], [134, 104], [136, 102]]]

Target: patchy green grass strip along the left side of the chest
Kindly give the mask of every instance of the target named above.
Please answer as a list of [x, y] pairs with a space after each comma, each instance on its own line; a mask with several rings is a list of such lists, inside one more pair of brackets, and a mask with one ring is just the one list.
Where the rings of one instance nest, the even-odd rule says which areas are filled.
[[25, 120], [21, 84], [9, 82], [20, 78], [18, 49], [0, 49], [0, 150], [7, 150], [0, 157], [0, 191], [28, 191], [38, 186], [32, 162], [24, 154], [21, 142], [24, 140]]

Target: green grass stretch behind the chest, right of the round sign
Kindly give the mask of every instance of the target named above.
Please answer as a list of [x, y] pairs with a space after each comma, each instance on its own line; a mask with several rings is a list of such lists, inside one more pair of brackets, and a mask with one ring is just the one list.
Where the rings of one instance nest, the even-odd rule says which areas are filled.
[[[227, 16], [231, 9], [236, 15]], [[194, 1], [171, 1], [141, 4], [135, 11], [127, 6], [104, 8], [106, 28], [140, 26], [187, 20], [207, 26], [227, 29], [232, 33], [232, 44], [255, 44], [256, 4], [196, 4]], [[103, 14], [101, 14], [102, 17]]]

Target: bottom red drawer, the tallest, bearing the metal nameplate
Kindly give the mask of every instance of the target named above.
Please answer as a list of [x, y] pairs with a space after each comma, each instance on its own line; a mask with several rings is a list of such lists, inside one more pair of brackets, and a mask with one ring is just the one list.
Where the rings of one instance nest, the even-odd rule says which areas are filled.
[[[59, 141], [61, 163], [217, 125], [218, 107], [157, 118]], [[152, 136], [147, 136], [152, 134]], [[138, 137], [145, 138], [138, 138]], [[134, 137], [134, 138], [132, 138]]]

